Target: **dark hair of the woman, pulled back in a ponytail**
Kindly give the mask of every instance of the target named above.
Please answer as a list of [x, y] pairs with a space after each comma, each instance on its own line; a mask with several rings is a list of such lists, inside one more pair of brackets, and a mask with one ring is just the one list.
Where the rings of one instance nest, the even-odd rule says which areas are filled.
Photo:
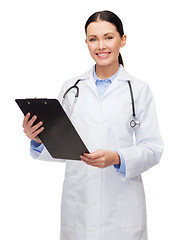
[[[115, 13], [113, 13], [111, 11], [100, 11], [100, 12], [93, 13], [88, 18], [88, 20], [85, 24], [85, 33], [86, 34], [87, 34], [88, 25], [92, 22], [97, 22], [98, 20], [107, 21], [107, 22], [112, 23], [116, 27], [118, 33], [120, 34], [120, 37], [123, 37], [124, 30], [123, 30], [122, 21], [120, 20], [120, 18]], [[124, 66], [123, 59], [121, 57], [121, 53], [119, 53], [118, 61], [119, 61], [119, 64], [122, 64]]]

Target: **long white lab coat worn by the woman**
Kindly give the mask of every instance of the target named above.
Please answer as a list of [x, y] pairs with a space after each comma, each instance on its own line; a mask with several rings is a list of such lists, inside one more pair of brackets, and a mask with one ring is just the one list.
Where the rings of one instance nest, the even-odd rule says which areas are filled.
[[[154, 100], [146, 83], [130, 76], [121, 66], [118, 76], [99, 99], [93, 69], [64, 83], [59, 94], [78, 83], [80, 94], [71, 121], [90, 152], [120, 151], [126, 174], [114, 166], [97, 168], [82, 161], [53, 159], [46, 149], [38, 159], [65, 161], [61, 207], [61, 240], [147, 240], [144, 188], [141, 173], [159, 163], [163, 144]], [[132, 105], [128, 83], [134, 92], [141, 127], [129, 126]], [[64, 109], [69, 113], [74, 91], [68, 93]]]

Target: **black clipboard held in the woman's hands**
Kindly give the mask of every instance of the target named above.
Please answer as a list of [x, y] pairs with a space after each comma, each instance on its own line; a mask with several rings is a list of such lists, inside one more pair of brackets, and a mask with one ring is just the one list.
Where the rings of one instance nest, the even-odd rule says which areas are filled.
[[89, 153], [75, 127], [57, 99], [15, 99], [26, 115], [37, 116], [34, 124], [42, 121], [44, 130], [38, 136], [53, 158], [81, 160]]

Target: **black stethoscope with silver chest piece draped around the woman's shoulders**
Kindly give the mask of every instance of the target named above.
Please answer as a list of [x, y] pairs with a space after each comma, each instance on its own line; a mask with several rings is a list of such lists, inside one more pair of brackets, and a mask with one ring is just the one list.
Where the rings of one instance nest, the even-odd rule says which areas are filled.
[[[77, 86], [77, 84], [81, 81], [81, 79], [78, 79], [75, 84], [73, 86], [71, 86], [70, 88], [68, 88], [64, 95], [63, 95], [63, 100], [62, 100], [62, 105], [64, 104], [64, 101], [66, 99], [66, 96], [67, 94], [72, 90], [72, 89], [76, 89], [76, 94], [75, 94], [75, 98], [74, 98], [74, 101], [73, 101], [73, 105], [72, 105], [72, 108], [71, 108], [71, 111], [69, 113], [69, 116], [72, 114], [73, 112], [73, 108], [74, 108], [74, 105], [75, 103], [77, 102], [77, 99], [78, 99], [78, 96], [79, 96], [79, 87]], [[133, 94], [133, 90], [132, 90], [132, 86], [131, 86], [131, 83], [130, 81], [128, 80], [127, 81], [128, 83], [128, 86], [129, 86], [129, 90], [130, 90], [130, 97], [131, 97], [131, 103], [132, 103], [132, 119], [130, 121], [130, 127], [132, 128], [139, 128], [141, 123], [140, 121], [137, 119], [136, 117], [136, 111], [135, 111], [135, 104], [134, 104], [134, 94]]]

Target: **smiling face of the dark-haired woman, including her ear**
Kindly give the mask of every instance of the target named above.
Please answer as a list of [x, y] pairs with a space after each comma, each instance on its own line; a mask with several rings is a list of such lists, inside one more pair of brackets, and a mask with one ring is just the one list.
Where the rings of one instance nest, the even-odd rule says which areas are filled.
[[121, 38], [112, 23], [92, 22], [87, 27], [86, 43], [96, 64], [108, 66], [118, 63], [120, 47], [125, 45], [126, 35]]

